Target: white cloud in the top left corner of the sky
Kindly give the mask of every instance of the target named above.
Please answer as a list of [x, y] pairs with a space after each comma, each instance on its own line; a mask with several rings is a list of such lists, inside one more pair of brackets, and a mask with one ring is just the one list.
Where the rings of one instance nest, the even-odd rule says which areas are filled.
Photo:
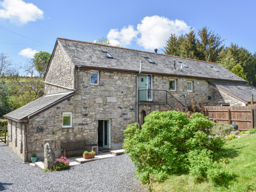
[[44, 12], [32, 3], [22, 0], [4, 0], [0, 2], [0, 18], [9, 19], [13, 23], [26, 24], [44, 18]]

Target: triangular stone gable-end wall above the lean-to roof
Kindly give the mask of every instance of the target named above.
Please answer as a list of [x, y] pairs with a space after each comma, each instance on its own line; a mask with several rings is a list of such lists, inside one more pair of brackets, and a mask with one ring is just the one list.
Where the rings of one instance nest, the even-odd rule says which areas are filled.
[[[71, 66], [70, 60], [61, 49], [61, 46], [57, 44], [52, 61], [50, 63], [47, 75], [44, 81], [52, 84], [58, 84], [64, 87], [74, 88], [74, 69]], [[60, 93], [70, 91], [61, 87], [56, 87], [50, 84], [45, 84], [44, 87], [46, 94]]]

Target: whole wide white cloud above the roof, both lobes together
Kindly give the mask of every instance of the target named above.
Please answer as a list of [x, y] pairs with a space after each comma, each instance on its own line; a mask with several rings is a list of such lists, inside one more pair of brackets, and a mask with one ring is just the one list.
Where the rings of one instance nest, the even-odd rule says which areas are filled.
[[111, 29], [107, 38], [111, 44], [126, 46], [135, 40], [145, 49], [155, 49], [164, 47], [171, 33], [181, 35], [189, 30], [190, 26], [183, 20], [169, 20], [167, 17], [154, 15], [144, 17], [141, 23], [137, 24], [137, 30], [132, 25], [123, 27], [120, 31]]

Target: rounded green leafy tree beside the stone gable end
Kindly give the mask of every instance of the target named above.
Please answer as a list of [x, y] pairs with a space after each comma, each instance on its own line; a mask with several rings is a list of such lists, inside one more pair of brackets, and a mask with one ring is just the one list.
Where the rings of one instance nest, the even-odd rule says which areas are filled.
[[44, 76], [46, 72], [50, 58], [51, 54], [49, 52], [40, 51], [35, 53], [34, 58], [31, 59], [35, 69], [38, 71], [38, 73], [41, 73], [42, 76]]

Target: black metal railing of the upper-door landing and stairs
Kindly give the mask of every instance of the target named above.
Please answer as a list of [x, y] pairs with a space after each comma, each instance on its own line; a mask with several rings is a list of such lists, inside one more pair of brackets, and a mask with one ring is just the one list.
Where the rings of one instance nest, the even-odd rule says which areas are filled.
[[140, 104], [167, 104], [173, 110], [185, 111], [185, 105], [166, 90], [139, 90]]

